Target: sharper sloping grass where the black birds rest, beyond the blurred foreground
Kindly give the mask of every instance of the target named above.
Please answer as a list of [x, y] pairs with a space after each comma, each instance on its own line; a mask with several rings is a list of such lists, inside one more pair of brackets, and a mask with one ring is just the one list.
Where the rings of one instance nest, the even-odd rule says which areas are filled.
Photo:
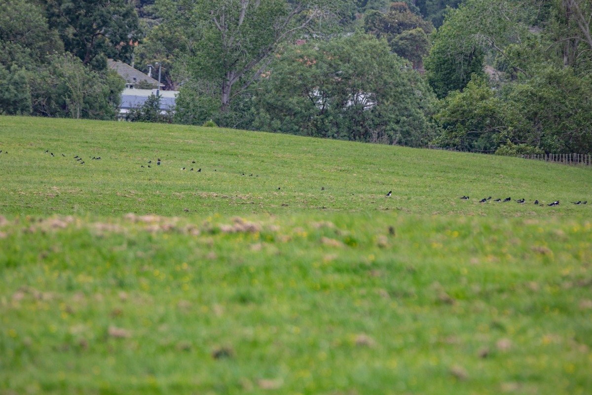
[[[139, 123], [0, 117], [0, 127], [0, 149], [8, 151], [0, 155], [0, 208], [9, 215], [404, 210], [546, 217], [589, 213], [590, 206], [567, 203], [592, 203], [592, 169], [519, 158]], [[478, 203], [490, 196], [528, 204]], [[535, 207], [535, 199], [562, 205]]]

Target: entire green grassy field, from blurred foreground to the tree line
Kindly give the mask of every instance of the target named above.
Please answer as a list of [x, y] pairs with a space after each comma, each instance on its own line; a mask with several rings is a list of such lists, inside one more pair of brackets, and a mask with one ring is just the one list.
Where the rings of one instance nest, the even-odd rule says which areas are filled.
[[0, 150], [0, 394], [592, 392], [592, 169], [20, 117]]

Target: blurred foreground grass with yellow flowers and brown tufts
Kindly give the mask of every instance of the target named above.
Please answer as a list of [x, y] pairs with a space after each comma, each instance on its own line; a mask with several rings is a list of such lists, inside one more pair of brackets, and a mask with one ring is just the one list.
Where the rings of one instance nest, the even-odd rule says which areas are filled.
[[10, 217], [2, 394], [588, 394], [592, 222]]

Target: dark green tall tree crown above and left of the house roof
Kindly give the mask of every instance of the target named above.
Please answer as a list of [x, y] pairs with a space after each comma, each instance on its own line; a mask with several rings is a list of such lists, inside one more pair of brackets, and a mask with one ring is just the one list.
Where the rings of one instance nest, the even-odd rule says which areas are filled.
[[[65, 50], [88, 65], [99, 55], [128, 60], [139, 38], [136, 10], [126, 0], [43, 0]], [[104, 64], [98, 65], [105, 66]]]

